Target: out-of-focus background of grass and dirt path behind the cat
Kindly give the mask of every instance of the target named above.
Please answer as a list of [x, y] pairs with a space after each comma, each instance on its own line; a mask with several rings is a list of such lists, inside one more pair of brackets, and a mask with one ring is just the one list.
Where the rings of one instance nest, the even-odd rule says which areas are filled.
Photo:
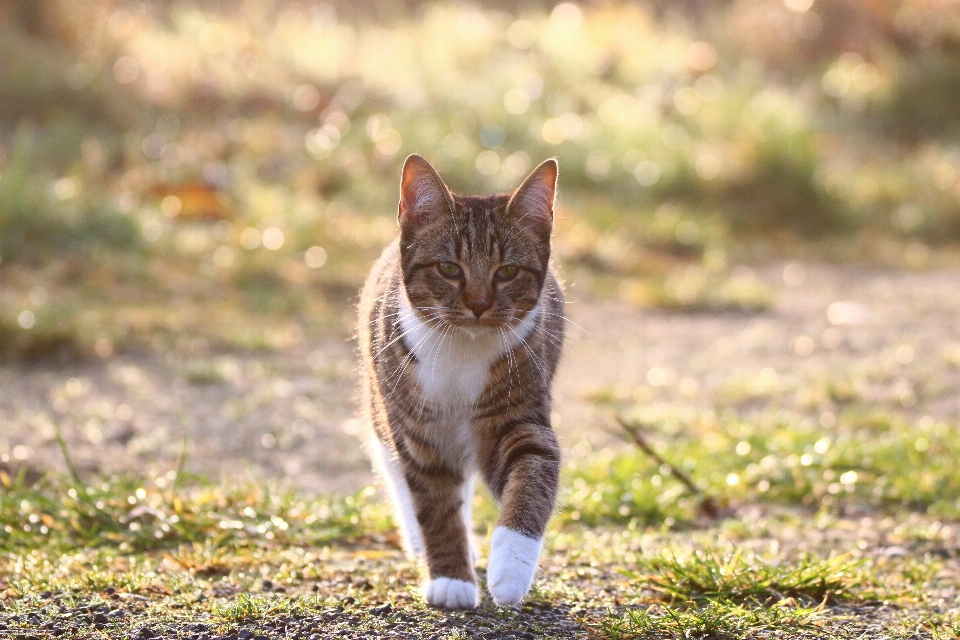
[[954, 0], [7, 0], [0, 471], [63, 468], [56, 423], [84, 472], [364, 486], [413, 152], [476, 193], [559, 159], [573, 460], [611, 412], [960, 415]]

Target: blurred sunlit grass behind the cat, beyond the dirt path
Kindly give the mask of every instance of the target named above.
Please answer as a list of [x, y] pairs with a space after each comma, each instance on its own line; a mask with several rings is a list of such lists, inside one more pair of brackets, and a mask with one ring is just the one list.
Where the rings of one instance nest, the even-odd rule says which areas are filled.
[[[340, 308], [395, 234], [414, 151], [478, 192], [559, 157], [557, 256], [585, 290], [645, 306], [765, 310], [771, 292], [735, 269], [758, 255], [935, 263], [960, 239], [960, 22], [908, 5], [742, 6], [696, 26], [634, 6], [432, 4], [378, 24], [280, 0], [257, 0], [276, 21], [18, 5], [0, 70], [16, 132], [0, 140], [0, 357], [347, 331]], [[887, 29], [838, 33], [862, 22]], [[237, 75], [238, 56], [257, 62]], [[59, 332], [18, 324], [41, 315], [38, 285], [75, 298]]]

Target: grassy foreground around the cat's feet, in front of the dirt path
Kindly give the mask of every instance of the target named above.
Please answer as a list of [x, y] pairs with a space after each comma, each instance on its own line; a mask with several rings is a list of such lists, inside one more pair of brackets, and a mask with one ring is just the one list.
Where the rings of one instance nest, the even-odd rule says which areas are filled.
[[[956, 588], [953, 425], [886, 405], [868, 411], [856, 398], [827, 427], [782, 408], [718, 415], [618, 394], [592, 401], [638, 426], [662, 459], [600, 450], [569, 463], [542, 575], [519, 610], [425, 608], [419, 569], [402, 558], [372, 488], [304, 497], [176, 472], [22, 471], [0, 475], [0, 615], [31, 629], [31, 615], [55, 619], [55, 601], [167, 633], [187, 624], [367, 634], [406, 625], [427, 635], [453, 625], [464, 637], [521, 625], [543, 637], [624, 639], [955, 632], [956, 607], [944, 599]], [[496, 506], [486, 493], [474, 506], [486, 537]], [[96, 624], [77, 637], [94, 637]]]

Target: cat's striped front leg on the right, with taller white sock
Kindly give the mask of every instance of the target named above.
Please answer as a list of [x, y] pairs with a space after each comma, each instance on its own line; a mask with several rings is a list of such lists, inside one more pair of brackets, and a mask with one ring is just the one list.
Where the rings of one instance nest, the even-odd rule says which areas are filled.
[[503, 507], [490, 540], [487, 588], [498, 605], [520, 602], [530, 590], [553, 512], [560, 449], [547, 425], [521, 424], [496, 449], [491, 488]]

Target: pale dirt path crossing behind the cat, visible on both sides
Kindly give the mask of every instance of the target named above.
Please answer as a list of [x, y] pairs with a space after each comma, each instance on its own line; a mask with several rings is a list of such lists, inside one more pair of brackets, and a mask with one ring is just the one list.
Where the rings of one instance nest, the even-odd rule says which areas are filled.
[[[772, 404], [824, 424], [844, 402], [892, 400], [918, 419], [960, 418], [960, 273], [774, 264], [756, 276], [778, 292], [757, 315], [639, 309], [574, 287], [555, 392], [568, 454], [615, 442], [605, 403], [681, 419]], [[56, 419], [82, 472], [166, 473], [185, 434], [191, 471], [348, 491], [371, 480], [355, 400], [343, 336], [270, 354], [5, 364], [0, 463], [63, 468]]]

